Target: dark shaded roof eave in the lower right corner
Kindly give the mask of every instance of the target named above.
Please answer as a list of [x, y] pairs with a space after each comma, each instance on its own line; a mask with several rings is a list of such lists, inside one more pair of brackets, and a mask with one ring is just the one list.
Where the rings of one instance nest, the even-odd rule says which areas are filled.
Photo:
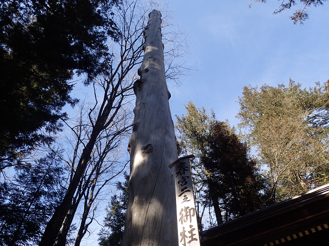
[[201, 246], [329, 244], [329, 184], [204, 231]]

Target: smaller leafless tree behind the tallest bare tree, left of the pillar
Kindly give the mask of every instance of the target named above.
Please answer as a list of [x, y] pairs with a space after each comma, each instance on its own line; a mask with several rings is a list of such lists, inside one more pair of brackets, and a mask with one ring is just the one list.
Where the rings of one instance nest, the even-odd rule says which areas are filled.
[[[94, 106], [94, 105], [93, 105]], [[79, 107], [79, 116], [77, 119], [65, 121], [69, 131], [66, 132], [67, 147], [66, 158], [63, 161], [70, 170], [68, 174], [68, 183], [74, 177], [75, 165], [82, 154], [83, 149], [88, 142], [89, 135], [92, 132], [91, 120], [95, 121], [96, 114], [87, 114], [90, 104], [81, 104]], [[96, 113], [97, 110], [94, 110]], [[90, 117], [90, 118], [89, 118]], [[75, 245], [79, 245], [82, 237], [88, 231], [88, 226], [94, 220], [94, 213], [97, 206], [94, 204], [97, 196], [102, 189], [112, 182], [125, 168], [128, 161], [122, 160], [121, 146], [128, 130], [130, 129], [130, 117], [127, 110], [121, 106], [121, 110], [113, 118], [112, 123], [104, 129], [98, 136], [94, 148], [91, 152], [91, 158], [86, 167], [83, 176], [80, 179], [77, 192], [74, 194], [71, 208], [62, 224], [57, 239], [57, 245], [65, 245], [67, 233], [72, 224], [73, 217], [80, 206], [82, 210], [80, 218], [80, 228], [78, 231]], [[91, 213], [91, 214], [90, 214]]]

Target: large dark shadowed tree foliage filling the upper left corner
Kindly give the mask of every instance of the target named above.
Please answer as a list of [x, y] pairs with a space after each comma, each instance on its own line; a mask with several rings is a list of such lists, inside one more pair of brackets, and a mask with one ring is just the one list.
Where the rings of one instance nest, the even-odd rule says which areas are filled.
[[[74, 72], [88, 84], [111, 61], [116, 0], [5, 0], [0, 4], [0, 168], [53, 140]], [[42, 131], [40, 131], [42, 129]], [[6, 161], [9, 161], [9, 163]]]

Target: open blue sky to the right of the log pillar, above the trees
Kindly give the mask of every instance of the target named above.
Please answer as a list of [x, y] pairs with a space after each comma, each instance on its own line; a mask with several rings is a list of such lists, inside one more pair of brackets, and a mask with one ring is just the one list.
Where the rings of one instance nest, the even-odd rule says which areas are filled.
[[251, 1], [170, 2], [174, 21], [188, 37], [185, 59], [197, 69], [180, 87], [168, 83], [174, 121], [174, 115], [186, 114], [184, 104], [192, 100], [237, 125], [236, 101], [244, 86], [287, 85], [291, 77], [308, 88], [329, 79], [329, 3], [309, 8], [310, 19], [294, 25], [289, 16], [300, 4], [273, 15], [281, 2], [269, 0], [249, 9]]

